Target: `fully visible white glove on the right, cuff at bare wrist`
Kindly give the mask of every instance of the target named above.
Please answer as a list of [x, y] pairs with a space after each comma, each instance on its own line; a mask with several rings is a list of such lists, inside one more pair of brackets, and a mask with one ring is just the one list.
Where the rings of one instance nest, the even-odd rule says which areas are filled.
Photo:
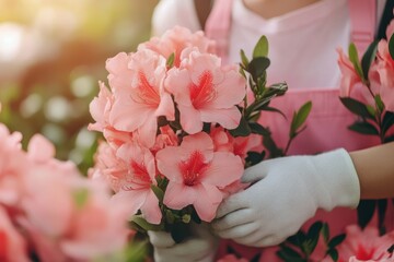
[[356, 207], [360, 199], [358, 176], [345, 150], [264, 160], [247, 168], [242, 181], [252, 186], [221, 203], [212, 228], [246, 246], [278, 245], [317, 209]]

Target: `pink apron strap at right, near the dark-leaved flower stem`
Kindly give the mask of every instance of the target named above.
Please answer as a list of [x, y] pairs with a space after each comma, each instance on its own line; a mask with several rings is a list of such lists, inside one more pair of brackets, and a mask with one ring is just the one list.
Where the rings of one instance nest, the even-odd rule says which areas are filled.
[[362, 55], [374, 39], [376, 28], [376, 1], [348, 0], [348, 5], [351, 21], [350, 40], [355, 43], [360, 55]]

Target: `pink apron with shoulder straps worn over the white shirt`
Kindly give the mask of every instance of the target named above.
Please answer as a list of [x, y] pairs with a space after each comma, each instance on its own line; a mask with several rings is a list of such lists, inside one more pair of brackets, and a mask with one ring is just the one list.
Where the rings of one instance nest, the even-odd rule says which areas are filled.
[[[363, 52], [374, 37], [375, 1], [349, 0], [348, 4], [352, 25], [351, 40]], [[224, 59], [224, 62], [227, 61], [231, 9], [231, 0], [217, 0], [206, 24], [206, 34], [217, 40], [218, 53]], [[356, 117], [340, 104], [337, 87], [318, 88], [316, 86], [316, 88], [303, 90], [291, 90], [290, 87], [285, 96], [273, 100], [271, 106], [279, 108], [289, 120], [271, 112], [262, 117], [260, 122], [271, 129], [278, 146], [286, 146], [292, 114], [308, 100], [313, 104], [306, 120], [308, 128], [296, 138], [289, 155], [315, 154], [338, 147], [355, 151], [379, 144], [379, 140], [374, 136], [361, 135], [347, 129], [356, 120]], [[393, 219], [393, 216], [389, 215], [389, 217]], [[305, 223], [304, 228], [308, 228], [316, 219], [328, 222], [331, 235], [335, 236], [341, 233], [347, 225], [357, 223], [357, 212], [345, 207], [337, 207], [332, 212], [317, 211], [316, 215]], [[228, 245], [246, 259], [254, 258], [263, 250], [260, 261], [278, 261], [275, 255], [275, 247], [247, 248], [232, 241], [223, 241], [218, 258], [225, 253]]]

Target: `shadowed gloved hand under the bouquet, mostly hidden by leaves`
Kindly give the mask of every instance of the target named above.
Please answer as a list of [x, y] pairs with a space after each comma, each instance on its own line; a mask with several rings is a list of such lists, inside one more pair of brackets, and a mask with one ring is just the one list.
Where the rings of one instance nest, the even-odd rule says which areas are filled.
[[207, 225], [194, 225], [193, 236], [181, 243], [175, 243], [169, 233], [148, 231], [148, 235], [154, 248], [155, 262], [212, 262], [219, 245], [219, 239]]

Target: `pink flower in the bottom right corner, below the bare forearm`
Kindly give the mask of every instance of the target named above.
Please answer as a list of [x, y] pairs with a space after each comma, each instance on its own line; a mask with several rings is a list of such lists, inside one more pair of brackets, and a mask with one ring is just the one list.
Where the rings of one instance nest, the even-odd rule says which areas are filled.
[[[339, 262], [349, 261], [381, 261], [389, 258], [387, 249], [394, 243], [394, 231], [379, 236], [375, 227], [361, 230], [357, 225], [346, 228], [346, 238], [338, 246]], [[357, 260], [356, 260], [357, 259]]]

